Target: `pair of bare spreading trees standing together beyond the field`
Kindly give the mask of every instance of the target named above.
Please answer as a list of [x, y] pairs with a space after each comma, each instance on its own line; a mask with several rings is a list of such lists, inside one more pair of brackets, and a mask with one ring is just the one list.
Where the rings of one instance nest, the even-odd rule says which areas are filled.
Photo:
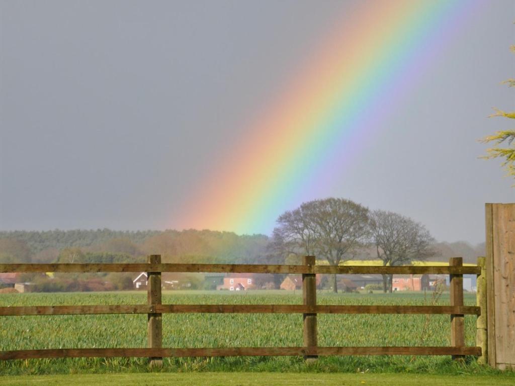
[[[285, 259], [315, 255], [337, 266], [370, 245], [384, 266], [406, 265], [438, 254], [434, 238], [421, 223], [385, 210], [371, 212], [341, 198], [305, 202], [282, 214], [277, 223], [271, 247]], [[336, 275], [332, 288], [338, 291]], [[383, 290], [392, 291], [392, 275], [383, 275]]]

